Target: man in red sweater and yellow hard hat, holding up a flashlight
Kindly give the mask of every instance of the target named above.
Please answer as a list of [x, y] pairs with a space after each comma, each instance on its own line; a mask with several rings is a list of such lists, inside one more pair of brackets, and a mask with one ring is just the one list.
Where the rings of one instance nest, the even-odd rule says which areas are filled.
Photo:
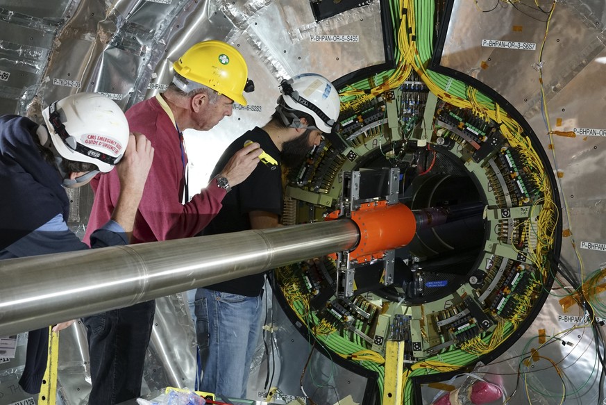
[[[246, 105], [244, 93], [251, 90], [246, 62], [237, 49], [216, 40], [199, 42], [174, 63], [174, 78], [165, 92], [126, 111], [131, 131], [145, 133], [155, 149], [133, 243], [196, 235], [219, 213], [230, 186], [255, 169], [262, 153], [258, 143], [235, 151], [205, 188], [190, 193], [183, 144], [185, 129], [212, 129], [232, 114], [234, 102]], [[95, 198], [87, 230], [110, 218], [119, 179], [110, 173], [96, 177], [91, 185]], [[87, 232], [85, 241], [88, 237]], [[154, 312], [155, 301], [147, 301], [83, 318], [90, 347], [90, 405], [116, 404], [140, 395]]]

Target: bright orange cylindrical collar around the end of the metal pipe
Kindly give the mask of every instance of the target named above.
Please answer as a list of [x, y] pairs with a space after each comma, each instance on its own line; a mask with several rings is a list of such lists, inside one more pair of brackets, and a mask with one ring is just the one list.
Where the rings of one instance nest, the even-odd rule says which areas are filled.
[[362, 204], [351, 213], [351, 220], [360, 229], [360, 242], [350, 252], [350, 259], [408, 245], [416, 232], [414, 215], [404, 204]]

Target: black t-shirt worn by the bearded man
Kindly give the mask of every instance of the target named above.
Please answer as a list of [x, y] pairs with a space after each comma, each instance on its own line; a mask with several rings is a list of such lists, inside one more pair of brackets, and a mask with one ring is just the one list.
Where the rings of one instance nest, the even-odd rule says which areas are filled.
[[[277, 166], [269, 167], [259, 163], [253, 173], [242, 183], [232, 187], [223, 199], [223, 208], [204, 229], [204, 235], [246, 231], [251, 229], [249, 213], [265, 211], [282, 215], [282, 170], [280, 168], [280, 151], [273, 144], [267, 132], [259, 127], [244, 133], [233, 141], [214, 167], [211, 177], [217, 175], [228, 160], [244, 147], [246, 140], [258, 142], [261, 149], [278, 162]], [[253, 274], [239, 279], [213, 284], [206, 288], [232, 294], [256, 297], [263, 288], [263, 274]]]

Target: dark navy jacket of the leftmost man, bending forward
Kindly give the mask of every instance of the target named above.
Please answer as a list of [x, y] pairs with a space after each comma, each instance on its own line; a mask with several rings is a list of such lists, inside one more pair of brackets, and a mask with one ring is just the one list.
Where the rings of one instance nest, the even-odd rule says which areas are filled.
[[[0, 259], [88, 249], [67, 228], [69, 199], [58, 170], [42, 158], [34, 142], [37, 127], [26, 117], [0, 117]], [[124, 229], [115, 222], [91, 236], [91, 247], [126, 243]], [[31, 394], [40, 392], [48, 342], [48, 328], [28, 334], [19, 385]]]

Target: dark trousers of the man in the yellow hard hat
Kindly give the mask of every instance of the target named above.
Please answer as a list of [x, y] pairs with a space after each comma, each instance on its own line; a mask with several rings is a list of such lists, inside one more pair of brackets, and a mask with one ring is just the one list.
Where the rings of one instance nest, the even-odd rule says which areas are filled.
[[83, 317], [92, 389], [89, 405], [113, 405], [141, 395], [155, 301]]

